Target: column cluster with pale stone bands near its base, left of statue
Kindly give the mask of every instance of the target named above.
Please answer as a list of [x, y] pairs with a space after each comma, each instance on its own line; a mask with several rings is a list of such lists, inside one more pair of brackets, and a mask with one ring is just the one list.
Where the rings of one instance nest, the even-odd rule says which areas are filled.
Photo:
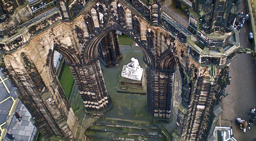
[[100, 61], [88, 65], [70, 65], [77, 88], [84, 102], [87, 113], [103, 114], [111, 110]]

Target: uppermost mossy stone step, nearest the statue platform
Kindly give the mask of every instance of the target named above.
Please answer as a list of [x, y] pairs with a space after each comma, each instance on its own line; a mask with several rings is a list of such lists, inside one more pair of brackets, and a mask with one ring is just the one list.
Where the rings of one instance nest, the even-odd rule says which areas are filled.
[[110, 126], [110, 127], [122, 127], [122, 128], [132, 128], [132, 129], [160, 129], [156, 124], [151, 124], [150, 122], [144, 121], [122, 121], [122, 120], [109, 120], [109, 119], [99, 119], [94, 123], [95, 125]]

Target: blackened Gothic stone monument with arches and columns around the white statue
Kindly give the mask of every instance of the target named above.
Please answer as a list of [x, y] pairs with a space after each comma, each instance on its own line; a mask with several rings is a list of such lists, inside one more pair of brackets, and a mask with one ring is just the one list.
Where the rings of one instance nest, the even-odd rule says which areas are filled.
[[[182, 101], [173, 140], [207, 140], [212, 135], [220, 102], [228, 95], [228, 66], [240, 46], [232, 27], [238, 0], [193, 1], [190, 11], [184, 11], [190, 15], [188, 29], [161, 11], [156, 0], [15, 1], [8, 8], [4, 1], [1, 61], [46, 140], [81, 139], [74, 134], [76, 116], [56, 77], [53, 52], [61, 53], [70, 67], [85, 112], [103, 115], [112, 102], [100, 62], [114, 67], [122, 59], [117, 30], [132, 38], [144, 56], [152, 120], [172, 121], [178, 67]], [[196, 30], [192, 33], [190, 27]]]

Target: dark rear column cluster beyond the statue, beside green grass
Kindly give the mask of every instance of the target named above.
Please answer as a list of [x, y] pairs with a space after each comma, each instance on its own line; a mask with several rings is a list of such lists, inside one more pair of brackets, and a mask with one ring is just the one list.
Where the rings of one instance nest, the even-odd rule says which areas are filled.
[[99, 49], [100, 61], [104, 67], [116, 66], [123, 59], [116, 30], [109, 32], [100, 41]]

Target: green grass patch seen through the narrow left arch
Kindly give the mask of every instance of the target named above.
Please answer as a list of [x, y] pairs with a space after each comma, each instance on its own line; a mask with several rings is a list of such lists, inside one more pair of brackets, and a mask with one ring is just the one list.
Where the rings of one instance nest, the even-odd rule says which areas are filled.
[[60, 84], [66, 94], [66, 97], [69, 98], [70, 91], [72, 89], [73, 82], [74, 82], [74, 77], [68, 65], [66, 64], [63, 64], [63, 65], [65, 66], [64, 66], [64, 69], [62, 70], [63, 72], [61, 74]]

